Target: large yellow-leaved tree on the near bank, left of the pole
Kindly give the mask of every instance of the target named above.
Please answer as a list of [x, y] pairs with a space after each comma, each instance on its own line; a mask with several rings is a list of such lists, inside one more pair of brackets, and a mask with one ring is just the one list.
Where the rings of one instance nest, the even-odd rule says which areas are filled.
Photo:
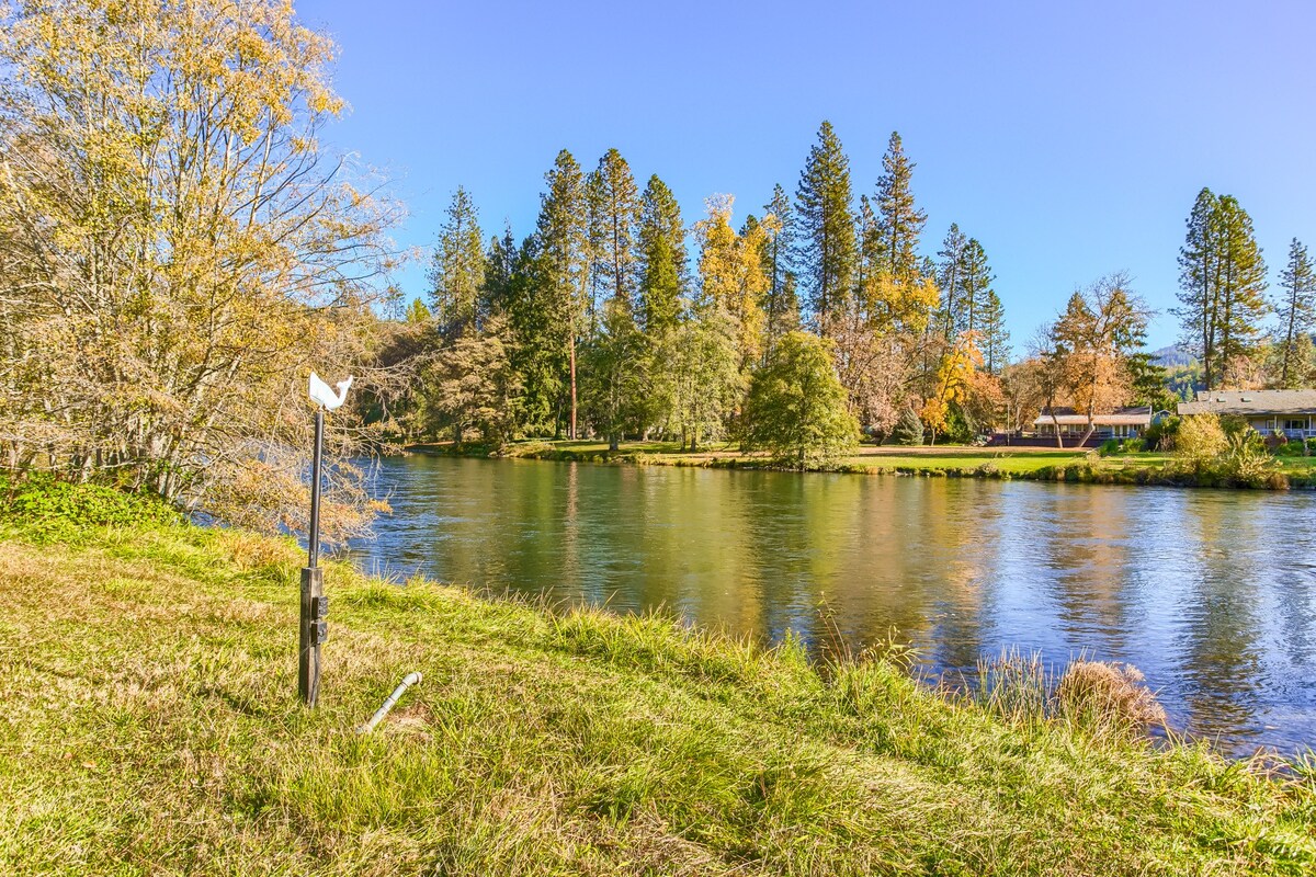
[[334, 58], [271, 0], [0, 9], [7, 468], [300, 526], [307, 375], [366, 358], [399, 216], [318, 139]]

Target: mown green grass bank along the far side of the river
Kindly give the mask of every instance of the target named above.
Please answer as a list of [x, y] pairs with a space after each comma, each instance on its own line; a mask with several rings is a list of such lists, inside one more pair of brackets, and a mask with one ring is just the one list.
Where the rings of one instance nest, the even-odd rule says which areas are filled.
[[[609, 451], [607, 442], [528, 440], [503, 448], [451, 443], [413, 444], [412, 451], [454, 456], [507, 456], [576, 463], [634, 463], [641, 465], [694, 465], [720, 469], [772, 468], [762, 455], [741, 454], [734, 444], [703, 451], [682, 451], [670, 442], [626, 442]], [[844, 460], [822, 467], [824, 472], [909, 475], [920, 477], [1069, 481], [1080, 484], [1152, 484], [1167, 486], [1233, 486], [1217, 477], [1199, 479], [1175, 471], [1170, 454], [1115, 454], [1100, 456], [1073, 448], [986, 447], [875, 447], [863, 446]], [[1250, 486], [1316, 486], [1316, 458], [1277, 458], [1282, 476]], [[1246, 486], [1246, 485], [1245, 485]]]

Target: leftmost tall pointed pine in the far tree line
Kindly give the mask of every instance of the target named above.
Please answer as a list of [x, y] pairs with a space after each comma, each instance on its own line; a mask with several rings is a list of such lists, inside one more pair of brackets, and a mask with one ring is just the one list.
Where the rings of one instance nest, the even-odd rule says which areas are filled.
[[484, 285], [483, 233], [475, 204], [457, 187], [429, 271], [434, 318], [455, 331], [478, 329], [480, 289]]

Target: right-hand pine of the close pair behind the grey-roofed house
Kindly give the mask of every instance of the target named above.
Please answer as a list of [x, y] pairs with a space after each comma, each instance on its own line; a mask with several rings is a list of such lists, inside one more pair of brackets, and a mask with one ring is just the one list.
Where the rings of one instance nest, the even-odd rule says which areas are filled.
[[1217, 317], [1221, 368], [1252, 359], [1259, 350], [1261, 320], [1270, 309], [1265, 298], [1266, 263], [1257, 246], [1252, 217], [1232, 195], [1220, 197], [1220, 305]]

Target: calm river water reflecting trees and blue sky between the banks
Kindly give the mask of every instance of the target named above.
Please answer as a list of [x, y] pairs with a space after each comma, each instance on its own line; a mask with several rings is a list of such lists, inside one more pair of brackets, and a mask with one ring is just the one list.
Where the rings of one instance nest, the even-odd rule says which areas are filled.
[[1316, 746], [1316, 494], [675, 467], [384, 460], [370, 571], [666, 607], [926, 672], [1003, 648], [1137, 665], [1234, 753]]

